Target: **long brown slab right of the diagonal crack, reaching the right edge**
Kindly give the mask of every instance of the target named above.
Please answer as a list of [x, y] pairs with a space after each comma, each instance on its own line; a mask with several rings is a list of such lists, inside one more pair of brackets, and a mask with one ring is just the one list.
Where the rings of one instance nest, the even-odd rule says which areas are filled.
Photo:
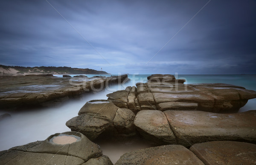
[[191, 146], [216, 140], [256, 143], [256, 111], [215, 114], [204, 111], [164, 111], [177, 144]]

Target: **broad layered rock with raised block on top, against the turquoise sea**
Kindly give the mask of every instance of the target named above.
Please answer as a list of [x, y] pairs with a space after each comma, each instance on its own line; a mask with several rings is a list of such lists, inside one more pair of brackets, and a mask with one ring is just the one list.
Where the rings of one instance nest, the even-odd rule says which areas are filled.
[[[197, 110], [215, 113], [237, 112], [256, 91], [222, 83], [183, 84], [173, 75], [153, 74], [148, 83], [137, 83], [137, 92], [116, 91], [108, 94], [119, 108], [140, 110]], [[129, 87], [131, 89], [132, 87]], [[134, 90], [135, 91], [135, 90]]]

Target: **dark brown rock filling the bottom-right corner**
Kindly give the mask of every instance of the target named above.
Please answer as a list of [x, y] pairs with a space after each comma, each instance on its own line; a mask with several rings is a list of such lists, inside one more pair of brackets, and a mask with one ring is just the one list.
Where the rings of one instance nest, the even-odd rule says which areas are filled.
[[256, 164], [256, 145], [246, 142], [204, 142], [192, 145], [189, 150], [206, 165]]

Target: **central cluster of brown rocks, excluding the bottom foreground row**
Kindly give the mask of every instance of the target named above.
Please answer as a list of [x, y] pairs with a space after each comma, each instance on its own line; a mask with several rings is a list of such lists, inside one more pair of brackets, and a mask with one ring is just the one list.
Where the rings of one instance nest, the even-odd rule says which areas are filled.
[[137, 83], [137, 88], [87, 102], [66, 125], [91, 140], [140, 134], [158, 145], [189, 147], [215, 140], [256, 143], [256, 131], [252, 131], [256, 111], [213, 113], [237, 111], [256, 97], [255, 91], [227, 84], [183, 83], [172, 75], [149, 76], [148, 83]]

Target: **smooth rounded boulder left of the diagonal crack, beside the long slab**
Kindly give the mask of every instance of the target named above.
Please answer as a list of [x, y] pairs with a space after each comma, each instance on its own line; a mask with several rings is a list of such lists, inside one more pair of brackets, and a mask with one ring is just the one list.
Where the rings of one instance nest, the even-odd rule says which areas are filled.
[[176, 144], [175, 136], [162, 111], [139, 111], [134, 119], [134, 125], [145, 139], [158, 144]]

